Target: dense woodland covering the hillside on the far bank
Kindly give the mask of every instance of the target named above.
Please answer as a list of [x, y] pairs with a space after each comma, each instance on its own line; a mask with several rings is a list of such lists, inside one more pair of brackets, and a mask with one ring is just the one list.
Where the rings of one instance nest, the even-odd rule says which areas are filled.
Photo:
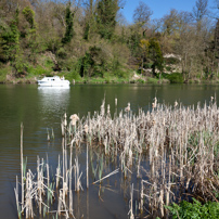
[[[141, 78], [217, 81], [219, 22], [207, 0], [160, 20], [140, 1], [133, 23], [123, 0], [1, 0], [0, 81], [64, 75], [105, 81]], [[139, 79], [141, 80], [141, 79]]]

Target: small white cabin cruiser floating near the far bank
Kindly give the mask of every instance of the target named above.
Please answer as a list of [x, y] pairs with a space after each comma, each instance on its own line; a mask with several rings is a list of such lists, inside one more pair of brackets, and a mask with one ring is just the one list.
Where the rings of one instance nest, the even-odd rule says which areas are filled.
[[69, 87], [70, 82], [65, 80], [64, 77], [43, 77], [41, 80], [37, 81], [41, 87]]

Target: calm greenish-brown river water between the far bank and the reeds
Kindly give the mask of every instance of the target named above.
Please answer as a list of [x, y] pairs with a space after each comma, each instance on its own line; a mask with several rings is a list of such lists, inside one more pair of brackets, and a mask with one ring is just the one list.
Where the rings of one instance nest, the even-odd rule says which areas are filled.
[[[202, 105], [205, 102], [208, 103], [210, 96], [218, 95], [219, 87], [209, 85], [76, 85], [69, 89], [38, 88], [37, 85], [1, 85], [0, 218], [17, 218], [14, 188], [16, 176], [21, 176], [22, 123], [24, 125], [24, 157], [27, 157], [27, 168], [34, 171], [38, 155], [44, 158], [48, 156], [49, 164], [52, 166], [62, 153], [60, 124], [64, 113], [68, 117], [72, 114], [78, 114], [80, 118], [88, 112], [93, 114], [94, 111], [100, 111], [104, 96], [106, 104], [111, 105], [111, 112], [115, 111], [116, 98], [118, 112], [130, 102], [131, 111], [138, 113], [139, 107], [144, 111], [150, 110], [154, 96], [158, 102], [166, 104], [173, 104], [177, 100], [183, 105], [196, 105], [197, 102]], [[48, 131], [51, 133], [52, 129], [54, 140], [48, 142]], [[85, 164], [81, 166], [83, 167]], [[78, 218], [128, 218], [129, 204], [121, 193], [120, 189], [115, 193], [105, 192], [100, 201], [95, 189], [87, 192], [87, 197], [83, 192], [83, 195], [77, 199], [80, 205], [83, 206], [87, 202], [89, 206], [80, 209]]]

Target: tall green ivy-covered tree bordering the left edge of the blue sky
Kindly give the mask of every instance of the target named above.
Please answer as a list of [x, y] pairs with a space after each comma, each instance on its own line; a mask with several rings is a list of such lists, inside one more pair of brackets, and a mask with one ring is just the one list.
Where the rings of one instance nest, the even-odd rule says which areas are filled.
[[116, 26], [118, 0], [100, 0], [96, 8], [98, 31], [102, 38], [111, 39]]

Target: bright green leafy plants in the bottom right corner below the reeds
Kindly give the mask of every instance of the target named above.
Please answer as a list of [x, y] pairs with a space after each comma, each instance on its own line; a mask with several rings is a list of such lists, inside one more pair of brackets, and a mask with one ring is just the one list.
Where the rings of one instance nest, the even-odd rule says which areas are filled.
[[193, 198], [193, 203], [182, 201], [179, 205], [165, 206], [172, 216], [172, 219], [216, 219], [219, 216], [219, 203], [208, 202], [202, 205]]

